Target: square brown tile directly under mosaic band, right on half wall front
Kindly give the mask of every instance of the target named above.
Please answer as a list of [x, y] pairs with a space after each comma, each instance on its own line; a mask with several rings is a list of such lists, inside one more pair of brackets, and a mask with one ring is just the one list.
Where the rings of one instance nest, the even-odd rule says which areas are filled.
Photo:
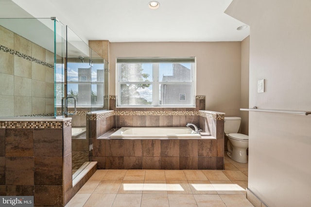
[[35, 157], [62, 157], [63, 129], [35, 128], [34, 151]]

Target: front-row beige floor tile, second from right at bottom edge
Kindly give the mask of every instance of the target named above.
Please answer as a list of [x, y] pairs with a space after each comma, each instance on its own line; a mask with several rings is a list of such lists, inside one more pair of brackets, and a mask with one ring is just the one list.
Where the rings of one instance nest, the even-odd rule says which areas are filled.
[[198, 207], [226, 207], [219, 195], [193, 195]]

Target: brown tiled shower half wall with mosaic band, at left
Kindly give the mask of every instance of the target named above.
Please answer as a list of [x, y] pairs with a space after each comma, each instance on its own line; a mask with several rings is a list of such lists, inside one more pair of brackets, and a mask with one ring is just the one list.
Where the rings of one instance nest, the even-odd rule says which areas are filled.
[[62, 207], [86, 180], [72, 187], [71, 118], [0, 120], [0, 195]]

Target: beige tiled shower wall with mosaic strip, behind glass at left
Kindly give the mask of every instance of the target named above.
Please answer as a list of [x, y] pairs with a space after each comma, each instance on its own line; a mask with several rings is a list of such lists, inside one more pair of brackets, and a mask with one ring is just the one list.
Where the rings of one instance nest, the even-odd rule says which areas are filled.
[[0, 26], [0, 116], [53, 114], [53, 65], [51, 51]]

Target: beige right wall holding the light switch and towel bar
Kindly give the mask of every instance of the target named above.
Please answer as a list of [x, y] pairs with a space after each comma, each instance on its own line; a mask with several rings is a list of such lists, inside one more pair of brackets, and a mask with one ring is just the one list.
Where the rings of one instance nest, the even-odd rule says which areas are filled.
[[[226, 13], [250, 25], [250, 107], [311, 111], [311, 1], [233, 0]], [[249, 112], [248, 187], [269, 207], [311, 206], [310, 126], [310, 115]]]

